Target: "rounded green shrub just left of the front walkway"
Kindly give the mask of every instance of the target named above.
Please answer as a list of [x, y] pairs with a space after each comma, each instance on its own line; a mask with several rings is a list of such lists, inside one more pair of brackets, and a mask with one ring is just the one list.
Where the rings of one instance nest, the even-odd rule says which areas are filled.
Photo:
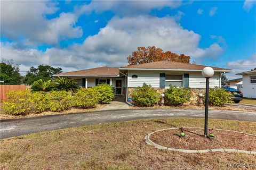
[[100, 93], [99, 100], [101, 104], [108, 104], [115, 97], [114, 90], [109, 84], [99, 84], [98, 86], [94, 86], [93, 89]]

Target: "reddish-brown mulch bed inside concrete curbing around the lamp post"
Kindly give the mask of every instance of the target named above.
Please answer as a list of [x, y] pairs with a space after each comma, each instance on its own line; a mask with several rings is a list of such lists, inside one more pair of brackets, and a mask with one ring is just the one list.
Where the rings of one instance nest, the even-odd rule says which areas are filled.
[[159, 131], [151, 134], [150, 140], [169, 148], [177, 149], [241, 149], [256, 151], [256, 137], [237, 132], [213, 130], [215, 138], [204, 138], [203, 129], [185, 129], [186, 137], [179, 137], [179, 129]]

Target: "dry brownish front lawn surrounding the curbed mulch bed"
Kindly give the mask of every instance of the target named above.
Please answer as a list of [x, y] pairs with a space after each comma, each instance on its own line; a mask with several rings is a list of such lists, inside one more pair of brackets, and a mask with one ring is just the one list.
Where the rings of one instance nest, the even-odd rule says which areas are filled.
[[[256, 155], [185, 154], [146, 144], [148, 133], [175, 126], [203, 128], [204, 119], [127, 121], [4, 139], [1, 169], [228, 169], [227, 164], [256, 163]], [[255, 122], [209, 120], [209, 128], [256, 134]]]

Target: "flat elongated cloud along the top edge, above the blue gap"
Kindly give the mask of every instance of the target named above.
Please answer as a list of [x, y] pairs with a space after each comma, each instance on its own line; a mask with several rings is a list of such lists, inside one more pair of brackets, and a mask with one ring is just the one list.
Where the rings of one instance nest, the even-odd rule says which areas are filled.
[[139, 14], [148, 14], [151, 9], [161, 10], [163, 7], [176, 8], [182, 4], [182, 1], [92, 1], [90, 4], [78, 6], [78, 14], [102, 13], [111, 10], [117, 15], [134, 16]]

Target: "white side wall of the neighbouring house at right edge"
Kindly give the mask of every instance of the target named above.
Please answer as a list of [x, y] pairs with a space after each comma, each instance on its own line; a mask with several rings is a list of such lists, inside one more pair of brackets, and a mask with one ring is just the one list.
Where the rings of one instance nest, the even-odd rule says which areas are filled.
[[256, 74], [243, 75], [243, 96], [249, 98], [256, 98], [256, 83], [251, 83], [250, 76]]

